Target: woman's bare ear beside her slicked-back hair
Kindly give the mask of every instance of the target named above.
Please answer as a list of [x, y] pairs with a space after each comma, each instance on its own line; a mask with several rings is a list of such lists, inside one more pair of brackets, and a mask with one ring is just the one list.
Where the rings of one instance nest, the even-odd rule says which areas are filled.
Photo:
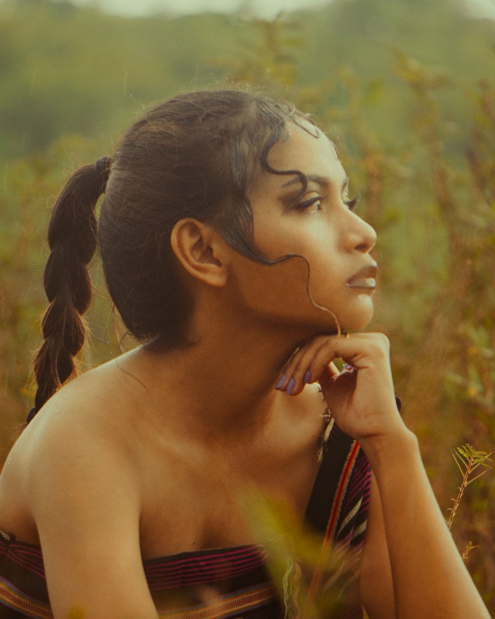
[[173, 227], [170, 242], [176, 258], [192, 277], [218, 288], [225, 285], [228, 246], [211, 226], [196, 219], [181, 219]]

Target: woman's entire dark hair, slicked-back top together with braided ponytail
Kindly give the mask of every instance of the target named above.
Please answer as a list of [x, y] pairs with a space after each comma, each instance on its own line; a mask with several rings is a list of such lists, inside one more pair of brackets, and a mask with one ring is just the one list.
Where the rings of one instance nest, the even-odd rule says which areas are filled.
[[[45, 342], [35, 360], [35, 409], [75, 373], [92, 298], [87, 264], [97, 246], [111, 298], [129, 332], [164, 347], [187, 344], [192, 303], [174, 268], [170, 233], [193, 217], [214, 225], [236, 251], [272, 264], [254, 245], [249, 186], [288, 120], [307, 118], [285, 102], [240, 89], [202, 90], [160, 103], [138, 119], [113, 160], [75, 171], [49, 222], [44, 284]], [[107, 182], [108, 181], [108, 182]], [[100, 220], [94, 209], [102, 192]], [[290, 254], [293, 255], [293, 254]], [[281, 259], [288, 258], [285, 256]], [[277, 261], [278, 262], [278, 261]]]

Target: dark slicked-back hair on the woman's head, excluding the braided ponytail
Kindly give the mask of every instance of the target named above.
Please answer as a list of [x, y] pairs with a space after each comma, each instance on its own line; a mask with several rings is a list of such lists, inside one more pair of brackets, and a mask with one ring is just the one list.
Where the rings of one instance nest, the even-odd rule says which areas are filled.
[[264, 93], [223, 88], [158, 103], [116, 147], [98, 223], [106, 284], [124, 326], [144, 344], [187, 347], [193, 301], [170, 233], [183, 217], [217, 228], [236, 251], [269, 264], [253, 240], [249, 186], [262, 152], [304, 118]]

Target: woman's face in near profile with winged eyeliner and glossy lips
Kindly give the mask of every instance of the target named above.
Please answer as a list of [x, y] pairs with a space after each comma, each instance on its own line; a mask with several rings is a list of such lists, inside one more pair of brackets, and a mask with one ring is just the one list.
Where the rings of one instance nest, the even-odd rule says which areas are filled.
[[[375, 263], [369, 251], [376, 243], [373, 228], [353, 212], [348, 178], [332, 142], [311, 124], [308, 131], [288, 123], [288, 137], [270, 150], [275, 170], [260, 171], [249, 199], [254, 215], [254, 241], [269, 259], [302, 254], [311, 265], [312, 299], [337, 316], [343, 330], [361, 329], [372, 317]], [[315, 137], [317, 134], [317, 137]], [[295, 202], [296, 201], [296, 202]], [[306, 292], [308, 266], [301, 258], [264, 266], [239, 257], [235, 278], [243, 303], [259, 318], [335, 331], [335, 319], [312, 305]], [[361, 269], [366, 269], [357, 275]]]

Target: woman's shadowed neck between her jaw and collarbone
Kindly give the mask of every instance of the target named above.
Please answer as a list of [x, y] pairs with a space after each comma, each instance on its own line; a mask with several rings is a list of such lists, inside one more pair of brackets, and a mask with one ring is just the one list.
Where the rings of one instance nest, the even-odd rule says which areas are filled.
[[144, 382], [161, 401], [178, 403], [174, 423], [204, 438], [241, 438], [268, 423], [280, 398], [288, 397], [275, 384], [308, 334], [245, 315], [204, 324], [189, 348], [166, 353], [140, 348]]

